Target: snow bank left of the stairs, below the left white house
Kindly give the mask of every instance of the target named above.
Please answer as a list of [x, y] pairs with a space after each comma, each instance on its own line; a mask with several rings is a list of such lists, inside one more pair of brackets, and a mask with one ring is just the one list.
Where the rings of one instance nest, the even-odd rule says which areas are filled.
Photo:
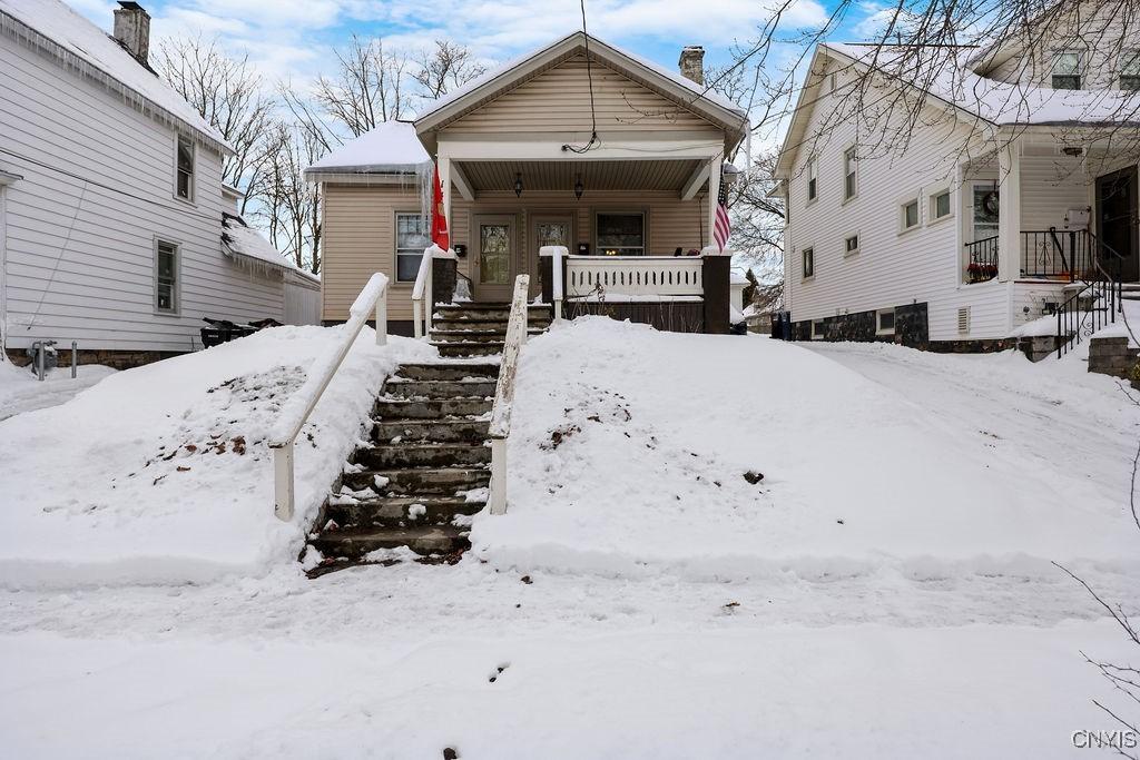
[[0, 423], [0, 579], [186, 582], [291, 563], [383, 377], [434, 351], [369, 328], [298, 441], [298, 516], [274, 516], [266, 439], [343, 327], [278, 327], [107, 377]]

